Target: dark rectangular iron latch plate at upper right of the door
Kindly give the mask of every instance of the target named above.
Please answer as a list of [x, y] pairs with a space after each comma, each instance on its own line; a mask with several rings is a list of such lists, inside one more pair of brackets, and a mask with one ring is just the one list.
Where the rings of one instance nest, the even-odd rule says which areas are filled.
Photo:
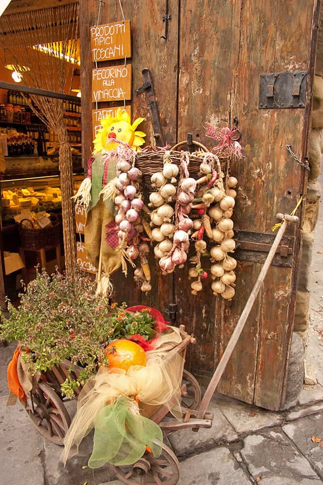
[[305, 108], [307, 71], [261, 74], [259, 109]]

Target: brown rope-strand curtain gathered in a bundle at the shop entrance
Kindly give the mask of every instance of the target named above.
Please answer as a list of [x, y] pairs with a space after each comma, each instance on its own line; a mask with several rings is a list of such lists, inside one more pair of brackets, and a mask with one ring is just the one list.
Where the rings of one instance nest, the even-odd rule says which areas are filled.
[[[78, 2], [0, 17], [4, 64], [21, 72], [26, 84], [59, 93], [70, 92], [77, 52]], [[32, 101], [32, 102], [31, 102]], [[58, 136], [62, 222], [66, 274], [76, 265], [73, 163], [64, 120], [65, 101], [31, 95], [29, 106]]]

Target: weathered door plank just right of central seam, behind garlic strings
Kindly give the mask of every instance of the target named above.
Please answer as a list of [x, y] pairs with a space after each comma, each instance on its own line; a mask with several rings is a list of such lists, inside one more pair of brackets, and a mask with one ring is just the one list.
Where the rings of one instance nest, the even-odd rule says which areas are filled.
[[[178, 141], [187, 133], [208, 147], [213, 140], [204, 136], [205, 122], [229, 124], [232, 70], [239, 37], [239, 2], [181, 2], [179, 45]], [[193, 254], [193, 253], [192, 253]], [[210, 260], [202, 259], [210, 269]], [[195, 375], [209, 375], [221, 352], [220, 299], [213, 295], [210, 277], [203, 291], [191, 294], [188, 265], [176, 269], [176, 324], [185, 324], [197, 344], [188, 349], [187, 366]]]

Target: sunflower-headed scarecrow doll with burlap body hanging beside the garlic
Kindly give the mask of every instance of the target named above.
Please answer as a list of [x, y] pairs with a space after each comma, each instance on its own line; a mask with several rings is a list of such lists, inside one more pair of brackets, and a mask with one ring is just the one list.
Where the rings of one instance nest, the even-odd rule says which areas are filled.
[[[144, 118], [137, 118], [132, 124], [128, 113], [118, 108], [116, 116], [101, 120], [92, 157], [88, 162], [88, 175], [74, 196], [77, 205], [86, 210], [84, 229], [87, 256], [98, 269], [97, 291], [103, 294], [112, 291], [110, 275], [121, 265], [119, 244], [115, 224], [113, 201], [114, 180], [118, 160], [133, 161], [134, 153], [145, 143], [145, 133], [137, 131]], [[102, 268], [102, 272], [101, 272]]]

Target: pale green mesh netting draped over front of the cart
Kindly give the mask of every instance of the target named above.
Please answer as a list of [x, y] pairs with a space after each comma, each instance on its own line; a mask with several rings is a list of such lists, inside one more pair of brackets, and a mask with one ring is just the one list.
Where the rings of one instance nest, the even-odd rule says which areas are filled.
[[138, 414], [137, 403], [125, 397], [105, 406], [94, 423], [93, 452], [90, 468], [132, 465], [149, 446], [155, 457], [162, 453], [163, 433], [152, 420]]

